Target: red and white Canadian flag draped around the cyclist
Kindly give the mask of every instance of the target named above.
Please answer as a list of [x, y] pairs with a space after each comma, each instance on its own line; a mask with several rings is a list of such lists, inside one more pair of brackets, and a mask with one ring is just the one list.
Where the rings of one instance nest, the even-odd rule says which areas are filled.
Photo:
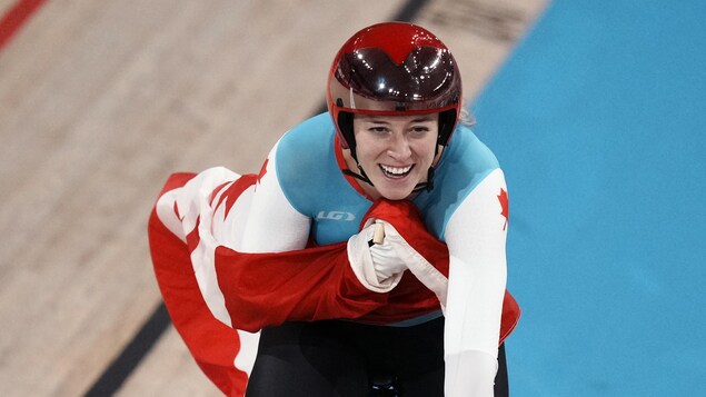
[[[227, 214], [258, 176], [225, 172], [222, 180], [210, 181], [206, 193], [203, 187], [185, 189], [196, 178], [176, 173], [168, 179], [149, 219], [150, 251], [175, 328], [201, 370], [226, 395], [245, 395], [256, 336], [263, 327], [332, 318], [391, 324], [440, 309], [438, 290], [435, 294], [409, 271], [389, 292], [367, 289], [348, 262], [346, 242], [276, 254], [238, 252], [213, 242], [205, 235], [208, 228], [199, 226], [210, 225], [215, 214]], [[207, 199], [189, 197], [190, 192]], [[193, 212], [197, 201], [209, 209]], [[448, 249], [427, 232], [414, 205], [380, 200], [361, 225], [368, 218], [392, 225], [434, 271], [448, 278]], [[205, 277], [205, 271], [212, 277]], [[209, 307], [213, 300], [222, 310]], [[519, 307], [506, 291], [500, 343], [518, 318]]]

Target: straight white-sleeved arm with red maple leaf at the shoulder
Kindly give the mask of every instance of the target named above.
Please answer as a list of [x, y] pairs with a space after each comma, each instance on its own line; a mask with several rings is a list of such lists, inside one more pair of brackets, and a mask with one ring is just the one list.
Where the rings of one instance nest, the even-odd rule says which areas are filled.
[[506, 285], [507, 193], [503, 171], [489, 173], [446, 228], [446, 396], [493, 396]]

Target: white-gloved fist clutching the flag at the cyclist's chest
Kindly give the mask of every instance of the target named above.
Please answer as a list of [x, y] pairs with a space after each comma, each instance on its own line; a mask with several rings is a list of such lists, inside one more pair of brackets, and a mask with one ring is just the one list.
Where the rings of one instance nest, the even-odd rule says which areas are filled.
[[[358, 280], [368, 289], [387, 292], [395, 288], [407, 269], [398, 257], [395, 247], [382, 240], [374, 241], [376, 229], [384, 228], [382, 224], [369, 220], [368, 225], [348, 239], [348, 259]], [[379, 235], [379, 232], [378, 232]]]

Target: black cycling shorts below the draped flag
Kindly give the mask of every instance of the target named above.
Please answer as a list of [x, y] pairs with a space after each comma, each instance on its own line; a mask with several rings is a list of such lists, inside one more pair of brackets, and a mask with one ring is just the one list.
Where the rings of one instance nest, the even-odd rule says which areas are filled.
[[[505, 348], [495, 396], [508, 396]], [[344, 320], [261, 331], [247, 397], [444, 396], [444, 318], [386, 327]]]

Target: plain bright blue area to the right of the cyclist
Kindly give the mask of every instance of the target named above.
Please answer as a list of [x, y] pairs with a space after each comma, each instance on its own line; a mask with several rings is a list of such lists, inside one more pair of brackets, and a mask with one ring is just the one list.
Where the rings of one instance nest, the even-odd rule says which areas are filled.
[[706, 395], [706, 1], [555, 0], [471, 107], [514, 396]]

